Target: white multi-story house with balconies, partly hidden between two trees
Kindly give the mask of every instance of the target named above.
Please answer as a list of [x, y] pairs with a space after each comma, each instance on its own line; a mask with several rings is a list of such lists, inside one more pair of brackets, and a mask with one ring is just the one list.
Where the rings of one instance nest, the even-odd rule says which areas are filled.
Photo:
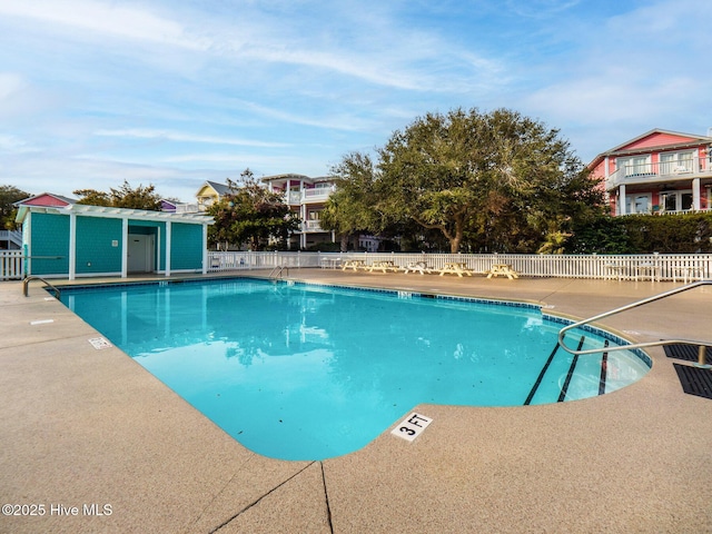
[[324, 230], [319, 222], [322, 210], [336, 189], [326, 177], [304, 175], [275, 175], [261, 178], [268, 190], [284, 195], [284, 201], [301, 219], [301, 227], [291, 236], [290, 247], [306, 249], [324, 243], [334, 243], [336, 236]]

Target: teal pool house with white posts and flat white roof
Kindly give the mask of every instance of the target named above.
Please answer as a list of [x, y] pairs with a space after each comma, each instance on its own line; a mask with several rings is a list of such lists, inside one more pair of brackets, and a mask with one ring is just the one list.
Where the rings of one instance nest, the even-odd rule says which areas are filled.
[[47, 201], [52, 198], [43, 194], [17, 205], [28, 276], [71, 280], [208, 270], [211, 217]]

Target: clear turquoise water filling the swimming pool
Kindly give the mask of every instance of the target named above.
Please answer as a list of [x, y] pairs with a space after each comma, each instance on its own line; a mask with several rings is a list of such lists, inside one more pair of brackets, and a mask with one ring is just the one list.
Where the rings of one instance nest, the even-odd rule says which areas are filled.
[[[429, 296], [432, 297], [432, 296]], [[627, 350], [554, 353], [538, 308], [257, 279], [67, 288], [62, 301], [246, 447], [284, 459], [356, 451], [421, 403], [517, 406], [640, 379]], [[583, 348], [602, 347], [592, 332]], [[427, 415], [427, 414], [425, 414]]]

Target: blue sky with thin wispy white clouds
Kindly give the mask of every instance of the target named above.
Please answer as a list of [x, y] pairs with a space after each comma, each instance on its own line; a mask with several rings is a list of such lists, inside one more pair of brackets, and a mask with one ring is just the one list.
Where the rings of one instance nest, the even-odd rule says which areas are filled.
[[584, 161], [712, 127], [708, 0], [0, 0], [0, 185], [192, 200], [505, 107]]

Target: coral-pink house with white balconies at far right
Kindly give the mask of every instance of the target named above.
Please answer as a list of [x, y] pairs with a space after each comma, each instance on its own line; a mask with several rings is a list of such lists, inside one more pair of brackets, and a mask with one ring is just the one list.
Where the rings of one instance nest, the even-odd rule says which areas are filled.
[[[708, 132], [709, 134], [709, 132]], [[589, 164], [612, 215], [712, 209], [712, 137], [651, 130]]]

